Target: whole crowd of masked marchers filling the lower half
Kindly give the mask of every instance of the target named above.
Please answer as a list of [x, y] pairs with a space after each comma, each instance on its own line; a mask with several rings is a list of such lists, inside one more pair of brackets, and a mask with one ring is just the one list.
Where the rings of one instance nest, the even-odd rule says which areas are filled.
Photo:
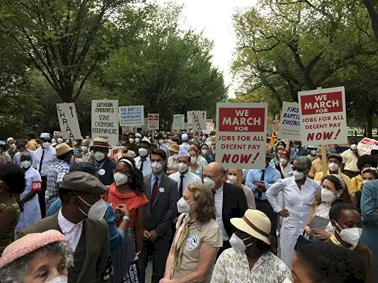
[[265, 168], [238, 172], [216, 146], [0, 141], [0, 283], [378, 282], [378, 147], [268, 141]]

